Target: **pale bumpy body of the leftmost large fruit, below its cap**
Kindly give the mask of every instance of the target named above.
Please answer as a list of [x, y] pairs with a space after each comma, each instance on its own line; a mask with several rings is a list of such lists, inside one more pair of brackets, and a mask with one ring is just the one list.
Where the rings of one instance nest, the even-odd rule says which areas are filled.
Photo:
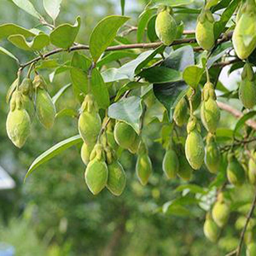
[[16, 147], [23, 147], [30, 133], [30, 118], [25, 109], [10, 110], [6, 119], [6, 131]]

